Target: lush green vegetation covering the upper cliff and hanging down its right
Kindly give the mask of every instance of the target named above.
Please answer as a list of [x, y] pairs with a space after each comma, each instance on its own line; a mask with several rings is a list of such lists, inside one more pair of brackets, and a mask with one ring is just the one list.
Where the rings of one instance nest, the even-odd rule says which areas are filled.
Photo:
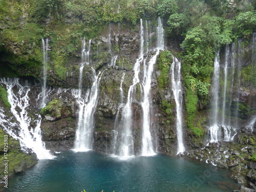
[[[200, 109], [209, 104], [215, 52], [238, 37], [250, 38], [256, 30], [255, 8], [256, 0], [0, 0], [0, 59], [5, 69], [18, 76], [41, 78], [41, 38], [49, 37], [49, 68], [63, 80], [70, 67], [69, 58], [80, 50], [80, 37], [98, 37], [110, 23], [125, 23], [133, 30], [140, 18], [156, 25], [160, 16], [168, 37], [180, 40], [187, 125], [201, 135], [195, 113], [198, 103]], [[160, 87], [166, 84], [168, 59], [166, 53], [160, 56]], [[254, 71], [248, 67], [242, 74], [255, 84]], [[167, 111], [170, 108], [168, 103], [162, 105]]]

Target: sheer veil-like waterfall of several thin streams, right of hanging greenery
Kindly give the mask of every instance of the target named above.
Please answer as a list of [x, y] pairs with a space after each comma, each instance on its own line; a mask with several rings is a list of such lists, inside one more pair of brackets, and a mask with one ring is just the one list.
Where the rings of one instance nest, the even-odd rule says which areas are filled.
[[[233, 42], [225, 46], [224, 60], [220, 63], [220, 55], [215, 56], [215, 70], [212, 78], [211, 103], [212, 119], [209, 126], [209, 142], [219, 140], [230, 141], [238, 128], [240, 73], [242, 66], [241, 39], [237, 48]], [[235, 53], [237, 56], [235, 58]], [[220, 78], [223, 74], [223, 78]], [[223, 86], [220, 86], [223, 84]], [[234, 120], [232, 120], [234, 118]]]

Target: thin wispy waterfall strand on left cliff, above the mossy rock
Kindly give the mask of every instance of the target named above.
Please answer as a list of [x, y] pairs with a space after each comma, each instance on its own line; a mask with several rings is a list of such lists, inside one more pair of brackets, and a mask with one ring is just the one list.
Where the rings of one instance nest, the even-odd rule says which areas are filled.
[[43, 75], [43, 83], [42, 83], [42, 100], [40, 104], [40, 108], [44, 108], [46, 106], [46, 80], [47, 80], [47, 63], [48, 63], [48, 49], [49, 49], [49, 42], [48, 38], [45, 39], [42, 38], [42, 51], [43, 51], [43, 62], [44, 66], [42, 69], [42, 75]]

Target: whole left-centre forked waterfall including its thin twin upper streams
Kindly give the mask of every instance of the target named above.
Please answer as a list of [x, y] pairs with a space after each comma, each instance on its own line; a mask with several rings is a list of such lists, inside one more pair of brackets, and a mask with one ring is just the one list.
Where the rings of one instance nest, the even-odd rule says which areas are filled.
[[79, 71], [79, 82], [78, 90], [72, 90], [74, 97], [76, 98], [79, 106], [78, 120], [77, 120], [77, 131], [75, 136], [75, 152], [88, 151], [92, 149], [92, 138], [94, 129], [94, 118], [98, 103], [98, 84], [101, 79], [101, 73], [96, 75], [96, 71], [92, 68], [94, 74], [94, 82], [91, 90], [87, 90], [85, 95], [82, 94], [82, 74], [84, 65], [90, 63], [90, 46], [91, 40], [88, 43], [88, 49], [86, 50], [86, 39], [82, 39], [82, 52], [81, 52], [81, 63]]

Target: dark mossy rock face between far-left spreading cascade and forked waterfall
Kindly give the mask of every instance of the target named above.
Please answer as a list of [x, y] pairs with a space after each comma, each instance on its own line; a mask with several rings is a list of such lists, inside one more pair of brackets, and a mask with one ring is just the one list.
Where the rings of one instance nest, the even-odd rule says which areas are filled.
[[51, 97], [53, 99], [41, 110], [42, 141], [52, 152], [70, 150], [76, 132], [75, 98], [71, 90], [52, 91]]

